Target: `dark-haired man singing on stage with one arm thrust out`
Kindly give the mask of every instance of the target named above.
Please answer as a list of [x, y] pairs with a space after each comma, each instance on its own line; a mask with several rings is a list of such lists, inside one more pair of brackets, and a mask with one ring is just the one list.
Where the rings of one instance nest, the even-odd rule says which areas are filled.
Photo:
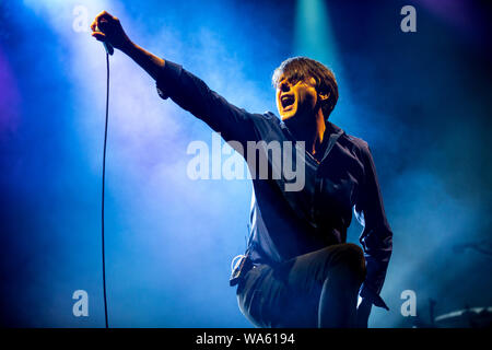
[[[255, 176], [258, 166], [248, 162], [250, 236], [231, 277], [247, 319], [257, 327], [367, 327], [372, 305], [387, 308], [379, 292], [393, 233], [367, 143], [328, 121], [338, 100], [328, 68], [295, 57], [276, 69], [279, 119], [230, 104], [180, 66], [133, 44], [119, 20], [105, 11], [91, 28], [96, 39], [142, 67], [161, 97], [171, 97], [225, 141], [244, 150], [251, 141], [277, 142], [284, 156], [292, 156], [288, 161], [304, 167], [304, 186], [289, 190], [285, 176]], [[293, 147], [289, 151], [285, 144]], [[277, 168], [271, 153], [263, 158], [270, 171]], [[363, 249], [345, 243], [352, 210], [364, 226]]]

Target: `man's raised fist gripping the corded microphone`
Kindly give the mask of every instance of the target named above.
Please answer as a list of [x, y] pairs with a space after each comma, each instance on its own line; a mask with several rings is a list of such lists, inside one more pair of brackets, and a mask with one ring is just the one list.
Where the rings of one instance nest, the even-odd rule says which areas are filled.
[[107, 42], [113, 47], [124, 50], [132, 43], [125, 33], [119, 20], [106, 11], [101, 12], [91, 24], [92, 36], [99, 42]]

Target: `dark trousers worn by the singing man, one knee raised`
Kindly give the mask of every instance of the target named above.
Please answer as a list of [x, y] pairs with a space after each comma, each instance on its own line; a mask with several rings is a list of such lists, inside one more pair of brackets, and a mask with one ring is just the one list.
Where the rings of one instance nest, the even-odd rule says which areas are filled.
[[362, 249], [337, 244], [274, 267], [255, 266], [238, 284], [237, 302], [256, 327], [354, 327], [364, 279]]

